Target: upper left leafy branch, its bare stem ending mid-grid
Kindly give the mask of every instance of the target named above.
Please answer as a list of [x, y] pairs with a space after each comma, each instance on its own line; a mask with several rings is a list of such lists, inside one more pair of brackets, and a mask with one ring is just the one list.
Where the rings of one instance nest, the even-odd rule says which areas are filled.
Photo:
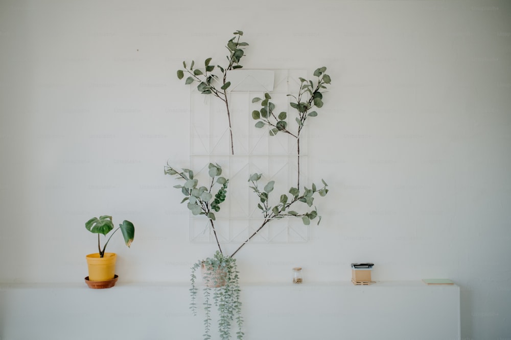
[[[199, 83], [197, 85], [197, 90], [200, 93], [213, 94], [225, 103], [227, 120], [229, 123], [231, 154], [234, 154], [234, 143], [233, 129], [230, 122], [229, 100], [227, 96], [227, 89], [231, 84], [227, 81], [227, 72], [243, 67], [240, 65], [240, 60], [245, 55], [244, 47], [248, 46], [248, 43], [240, 41], [241, 36], [243, 36], [243, 31], [236, 31], [233, 34], [235, 37], [231, 38], [225, 46], [229, 50], [229, 55], [226, 56], [228, 61], [227, 66], [222, 67], [220, 65], [216, 65], [221, 72], [220, 76], [212, 73], [215, 70], [215, 65], [210, 65], [212, 58], [207, 58], [204, 61], [203, 69], [194, 69], [195, 61], [192, 60], [189, 67], [187, 67], [187, 63], [183, 61], [183, 70], [177, 70], [178, 79], [183, 79], [185, 72], [189, 75], [184, 81], [184, 84], [189, 85], [197, 82]], [[220, 83], [220, 88], [215, 86], [215, 81]]]

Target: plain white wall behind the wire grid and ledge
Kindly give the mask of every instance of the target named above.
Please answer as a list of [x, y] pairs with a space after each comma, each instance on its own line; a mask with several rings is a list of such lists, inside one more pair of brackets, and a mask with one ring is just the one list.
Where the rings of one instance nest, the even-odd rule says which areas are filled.
[[[410, 2], [0, 3], [0, 282], [74, 282], [95, 239], [84, 222], [135, 223], [125, 281], [182, 282], [214, 245], [191, 244], [163, 166], [187, 166], [182, 60], [327, 66], [311, 123], [323, 220], [299, 245], [249, 245], [244, 282], [449, 277], [462, 338], [511, 337], [511, 4]], [[247, 113], [248, 114], [248, 113]], [[248, 307], [249, 308], [249, 307]]]

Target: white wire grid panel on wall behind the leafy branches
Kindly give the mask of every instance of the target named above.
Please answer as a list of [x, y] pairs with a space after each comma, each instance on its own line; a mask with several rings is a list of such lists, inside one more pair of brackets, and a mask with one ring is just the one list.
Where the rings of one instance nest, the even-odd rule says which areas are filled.
[[[229, 179], [227, 199], [216, 215], [215, 228], [221, 243], [240, 243], [257, 230], [263, 222], [257, 207], [259, 197], [249, 188], [250, 174], [262, 173], [259, 186], [275, 181], [270, 193], [270, 205], [280, 195], [288, 193], [297, 184], [297, 142], [285, 133], [269, 135], [268, 126], [255, 127], [252, 111], [261, 109], [255, 97], [271, 95], [275, 112], [287, 112], [288, 126], [297, 127], [295, 109], [289, 106], [288, 94], [296, 95], [300, 89], [299, 77], [309, 75], [306, 69], [231, 71], [233, 75], [228, 91], [234, 154], [231, 154], [230, 131], [225, 103], [219, 98], [201, 94], [195, 86], [190, 93], [190, 167], [195, 178], [207, 182], [208, 164], [222, 167], [222, 176]], [[307, 125], [307, 124], [306, 124]], [[309, 184], [308, 161], [309, 132], [306, 126], [300, 134], [300, 183]], [[273, 194], [273, 195], [272, 195]], [[272, 197], [274, 196], [274, 197]], [[303, 243], [310, 239], [309, 226], [299, 218], [271, 221], [250, 242]], [[209, 221], [204, 216], [190, 214], [190, 240], [215, 242]]]

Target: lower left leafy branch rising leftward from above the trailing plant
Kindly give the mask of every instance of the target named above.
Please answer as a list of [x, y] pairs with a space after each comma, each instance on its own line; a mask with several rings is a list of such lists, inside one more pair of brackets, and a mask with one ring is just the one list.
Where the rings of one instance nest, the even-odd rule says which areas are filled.
[[[181, 203], [188, 201], [187, 207], [193, 215], [205, 215], [207, 217], [210, 221], [211, 228], [213, 229], [218, 250], [222, 253], [222, 248], [220, 247], [217, 231], [215, 229], [215, 223], [213, 222], [216, 220], [215, 213], [213, 213], [213, 211], [220, 211], [220, 204], [225, 201], [225, 197], [227, 195], [227, 185], [229, 180], [220, 176], [222, 174], [222, 168], [218, 164], [210, 163], [208, 168], [208, 174], [211, 177], [209, 188], [204, 186], [198, 187], [199, 181], [194, 178], [194, 173], [190, 169], [177, 171], [167, 164], [165, 167], [165, 174], [177, 175], [178, 178], [185, 180], [183, 185], [174, 186], [174, 188], [181, 189], [181, 193], [185, 196]], [[222, 187], [215, 194], [215, 199], [213, 199], [212, 191], [215, 184], [219, 184]]]

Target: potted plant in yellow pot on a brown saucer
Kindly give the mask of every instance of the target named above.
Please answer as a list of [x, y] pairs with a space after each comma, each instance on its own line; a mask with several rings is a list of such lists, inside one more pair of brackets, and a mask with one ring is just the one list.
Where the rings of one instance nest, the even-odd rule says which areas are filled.
[[135, 237], [135, 227], [130, 221], [123, 221], [123, 223], [110, 234], [103, 248], [101, 248], [100, 234], [106, 237], [107, 234], [113, 230], [112, 217], [107, 215], [100, 216], [99, 218], [93, 217], [85, 222], [85, 228], [92, 233], [98, 234], [98, 252], [86, 255], [89, 276], [85, 278], [85, 282], [91, 288], [112, 287], [118, 279], [118, 276], [115, 275], [117, 254], [107, 253], [106, 246], [108, 242], [110, 242], [113, 234], [121, 229], [124, 242], [130, 247]]

